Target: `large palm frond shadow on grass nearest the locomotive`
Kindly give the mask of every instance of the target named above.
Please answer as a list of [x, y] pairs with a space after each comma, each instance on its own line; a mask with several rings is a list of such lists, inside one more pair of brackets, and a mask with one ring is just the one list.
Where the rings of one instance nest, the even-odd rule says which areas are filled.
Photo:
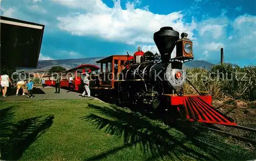
[[[82, 117], [83, 120], [91, 121], [98, 129], [104, 129], [105, 132], [112, 135], [123, 137], [124, 147], [139, 145], [145, 154], [151, 156], [150, 159], [161, 156], [173, 156], [179, 159], [177, 153], [186, 151], [186, 155], [193, 155], [194, 158], [209, 159], [207, 156], [188, 148], [182, 140], [176, 139], [168, 130], [169, 127], [160, 124], [151, 123], [148, 118], [141, 116], [139, 113], [125, 111], [118, 107], [98, 107], [89, 104], [90, 108], [99, 111], [99, 115], [90, 114]], [[110, 117], [110, 118], [104, 118]], [[121, 147], [116, 148], [116, 150]], [[106, 153], [114, 153], [116, 150], [110, 150]], [[101, 154], [102, 157], [107, 154]], [[100, 159], [99, 156], [90, 158], [89, 160]]]

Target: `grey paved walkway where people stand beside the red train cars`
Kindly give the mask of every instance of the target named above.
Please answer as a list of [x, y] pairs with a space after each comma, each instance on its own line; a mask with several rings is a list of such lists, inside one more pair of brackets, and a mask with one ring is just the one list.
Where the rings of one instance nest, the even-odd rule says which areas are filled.
[[[54, 87], [36, 87], [33, 89], [33, 98], [27, 98], [26, 96], [15, 96], [15, 89], [12, 89], [12, 91], [9, 91], [8, 97], [3, 97], [1, 95], [0, 101], [22, 101], [22, 100], [56, 100], [56, 99], [90, 99], [87, 97], [81, 97], [81, 94], [75, 93], [73, 91], [70, 91], [67, 93], [65, 89], [60, 89], [60, 94], [55, 94], [55, 88]], [[99, 100], [97, 98], [92, 97], [92, 99]]]

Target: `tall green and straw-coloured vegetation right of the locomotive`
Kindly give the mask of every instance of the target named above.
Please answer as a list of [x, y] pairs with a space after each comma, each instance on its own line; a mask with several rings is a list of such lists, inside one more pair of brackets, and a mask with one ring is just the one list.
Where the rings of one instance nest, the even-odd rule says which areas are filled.
[[[187, 78], [199, 90], [207, 91], [219, 98], [228, 96], [233, 99], [256, 100], [256, 66], [239, 67], [226, 63], [212, 66], [208, 71], [201, 68], [187, 70]], [[188, 84], [186, 94], [195, 94]]]

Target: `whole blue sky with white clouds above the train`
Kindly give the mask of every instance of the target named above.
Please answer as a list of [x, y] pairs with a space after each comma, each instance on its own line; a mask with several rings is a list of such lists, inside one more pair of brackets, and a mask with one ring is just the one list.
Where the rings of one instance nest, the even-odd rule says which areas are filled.
[[[0, 0], [1, 15], [45, 25], [39, 60], [159, 53], [170, 26], [193, 41], [195, 60], [256, 65], [255, 0]], [[172, 54], [172, 57], [175, 53]]]

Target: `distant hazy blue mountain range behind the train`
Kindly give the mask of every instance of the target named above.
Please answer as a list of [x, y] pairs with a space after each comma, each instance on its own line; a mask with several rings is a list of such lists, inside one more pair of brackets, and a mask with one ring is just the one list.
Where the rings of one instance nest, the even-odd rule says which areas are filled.
[[[25, 72], [40, 72], [49, 70], [53, 66], [62, 66], [69, 70], [70, 68], [74, 68], [80, 64], [94, 64], [100, 66], [100, 64], [96, 63], [96, 61], [103, 59], [105, 57], [91, 57], [91, 58], [82, 58], [82, 59], [59, 59], [59, 60], [41, 60], [38, 61], [37, 68], [16, 68], [17, 72], [25, 71]], [[184, 63], [185, 68], [210, 68], [212, 63], [203, 60], [192, 60]]]

